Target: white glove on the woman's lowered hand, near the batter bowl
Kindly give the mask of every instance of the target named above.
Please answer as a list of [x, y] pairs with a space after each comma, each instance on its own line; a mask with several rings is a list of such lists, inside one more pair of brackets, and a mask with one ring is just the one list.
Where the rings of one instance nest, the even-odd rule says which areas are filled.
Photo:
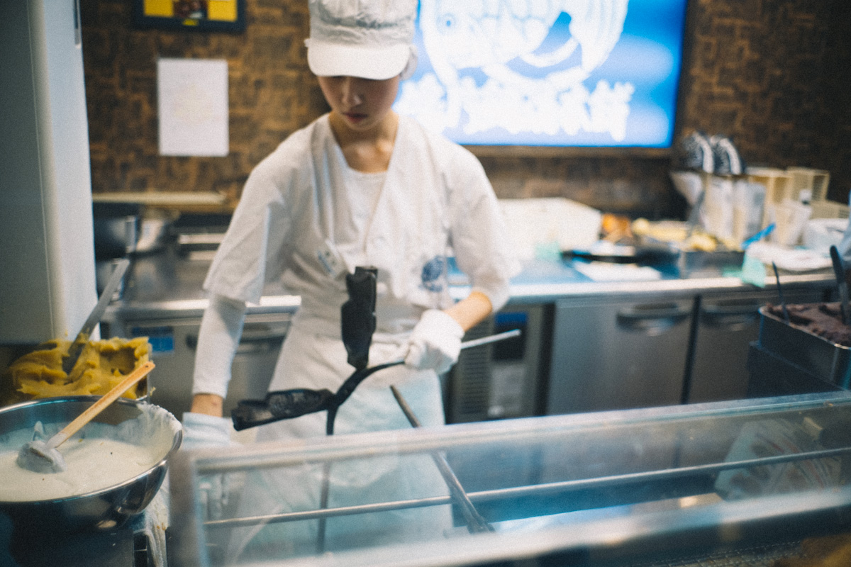
[[[225, 447], [231, 444], [231, 420], [186, 411], [183, 414], [183, 443], [180, 449]], [[198, 480], [198, 496], [208, 519], [220, 519], [227, 505], [230, 487], [226, 474], [203, 475]]]

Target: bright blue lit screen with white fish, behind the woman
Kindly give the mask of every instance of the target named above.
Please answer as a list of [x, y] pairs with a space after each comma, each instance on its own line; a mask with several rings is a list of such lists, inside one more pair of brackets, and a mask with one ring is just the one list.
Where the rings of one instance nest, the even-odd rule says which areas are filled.
[[397, 111], [463, 145], [671, 147], [688, 0], [420, 0]]

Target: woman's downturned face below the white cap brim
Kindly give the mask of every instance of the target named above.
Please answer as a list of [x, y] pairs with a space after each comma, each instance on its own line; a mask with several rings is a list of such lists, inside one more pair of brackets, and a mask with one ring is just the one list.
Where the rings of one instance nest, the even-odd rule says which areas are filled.
[[399, 77], [383, 81], [359, 77], [318, 77], [318, 80], [331, 112], [356, 132], [367, 132], [384, 122], [396, 100], [400, 81]]

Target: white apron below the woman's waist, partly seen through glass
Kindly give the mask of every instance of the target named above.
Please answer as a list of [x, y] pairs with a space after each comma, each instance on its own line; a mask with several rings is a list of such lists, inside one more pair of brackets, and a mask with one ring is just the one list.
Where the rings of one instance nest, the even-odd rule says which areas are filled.
[[[391, 360], [397, 347], [373, 344], [370, 365]], [[336, 337], [305, 332], [299, 326], [284, 342], [271, 390], [294, 387], [335, 390], [339, 375], [353, 371], [346, 349]], [[398, 384], [423, 427], [443, 424], [440, 382], [433, 371], [414, 372], [404, 366], [377, 371], [358, 386], [340, 406], [334, 434], [357, 434], [408, 429], [407, 418], [394, 400], [390, 384]], [[325, 412], [260, 426], [259, 443], [277, 439], [316, 438], [325, 434]], [[429, 456], [386, 456], [362, 462], [334, 462], [330, 469], [328, 506], [349, 506], [397, 499], [445, 496], [448, 489]], [[245, 480], [239, 516], [262, 516], [319, 507], [323, 467], [303, 465], [253, 471]], [[433, 539], [451, 527], [447, 505], [386, 513], [358, 514], [328, 519], [326, 551], [364, 545]], [[234, 531], [229, 545], [231, 561], [273, 561], [316, 551], [318, 522], [308, 520], [266, 524]]]

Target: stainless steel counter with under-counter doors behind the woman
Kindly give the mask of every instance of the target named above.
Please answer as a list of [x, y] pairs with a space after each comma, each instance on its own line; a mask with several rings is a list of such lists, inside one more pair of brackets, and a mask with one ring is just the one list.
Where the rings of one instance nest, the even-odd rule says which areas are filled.
[[[197, 258], [174, 248], [135, 256], [123, 298], [104, 317], [107, 336], [148, 337], [157, 363], [151, 377], [156, 403], [178, 416], [191, 400], [209, 264], [209, 254]], [[748, 343], [757, 335], [757, 309], [777, 297], [774, 277], [759, 288], [720, 271], [682, 277], [669, 266], [649, 281], [591, 281], [577, 265], [536, 260], [511, 281], [509, 304], [468, 338], [522, 327], [523, 340], [501, 345], [499, 353], [488, 348], [461, 356], [448, 379], [448, 421], [743, 395]], [[455, 298], [469, 293], [457, 270], [450, 271], [450, 284]], [[787, 300], [820, 300], [833, 287], [832, 275], [785, 274], [781, 286]], [[226, 410], [265, 393], [299, 305], [298, 296], [272, 284], [260, 304], [248, 306]]]

